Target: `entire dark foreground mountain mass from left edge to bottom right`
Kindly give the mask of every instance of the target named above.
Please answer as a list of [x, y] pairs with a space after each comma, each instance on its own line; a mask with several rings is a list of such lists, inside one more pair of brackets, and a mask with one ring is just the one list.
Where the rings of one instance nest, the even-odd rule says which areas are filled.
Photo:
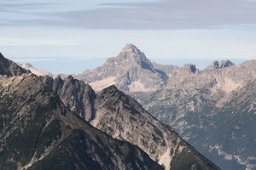
[[0, 169], [219, 169], [115, 86], [0, 65]]

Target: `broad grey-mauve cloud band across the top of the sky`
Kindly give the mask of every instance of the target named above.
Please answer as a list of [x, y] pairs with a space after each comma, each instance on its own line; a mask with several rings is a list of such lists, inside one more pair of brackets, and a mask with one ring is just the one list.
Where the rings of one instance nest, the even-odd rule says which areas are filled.
[[99, 8], [9, 20], [18, 26], [70, 26], [86, 29], [206, 29], [256, 26], [256, 3], [245, 0], [168, 0], [154, 3], [102, 3]]

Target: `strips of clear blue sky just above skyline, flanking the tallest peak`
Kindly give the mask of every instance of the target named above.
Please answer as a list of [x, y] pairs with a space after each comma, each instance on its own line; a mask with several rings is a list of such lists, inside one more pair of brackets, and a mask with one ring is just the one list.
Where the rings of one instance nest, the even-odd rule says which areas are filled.
[[[79, 74], [86, 70], [95, 69], [98, 66], [102, 66], [107, 59], [45, 59], [45, 60], [20, 60], [21, 58], [12, 58], [17, 63], [31, 64], [34, 68], [49, 71], [55, 75], [57, 74]], [[148, 58], [149, 59], [149, 58]], [[228, 59], [228, 58], [227, 58]], [[177, 65], [182, 67], [185, 64], [194, 64], [199, 70], [205, 69], [207, 66], [212, 65], [214, 60], [219, 62], [225, 59], [150, 59], [151, 62], [156, 62], [160, 65]], [[229, 59], [235, 65], [239, 65], [242, 62], [251, 59]], [[56, 64], [58, 63], [58, 64]]]

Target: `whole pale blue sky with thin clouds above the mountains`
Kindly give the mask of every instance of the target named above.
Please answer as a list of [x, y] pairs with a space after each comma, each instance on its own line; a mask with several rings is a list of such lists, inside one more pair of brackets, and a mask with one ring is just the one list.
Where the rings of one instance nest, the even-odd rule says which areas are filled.
[[256, 59], [256, 1], [0, 0], [0, 51], [54, 73], [79, 73], [131, 42], [163, 64]]

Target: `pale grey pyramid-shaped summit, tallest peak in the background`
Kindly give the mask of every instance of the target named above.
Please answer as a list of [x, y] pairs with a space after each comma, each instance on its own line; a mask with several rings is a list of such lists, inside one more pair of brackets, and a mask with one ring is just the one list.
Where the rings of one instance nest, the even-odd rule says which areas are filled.
[[[118, 56], [108, 58], [104, 65], [74, 77], [89, 83], [96, 92], [114, 84], [125, 93], [141, 100], [168, 80], [166, 73], [157, 69], [160, 66], [152, 64], [135, 45], [128, 43]], [[177, 66], [169, 65], [169, 68], [172, 72]]]

